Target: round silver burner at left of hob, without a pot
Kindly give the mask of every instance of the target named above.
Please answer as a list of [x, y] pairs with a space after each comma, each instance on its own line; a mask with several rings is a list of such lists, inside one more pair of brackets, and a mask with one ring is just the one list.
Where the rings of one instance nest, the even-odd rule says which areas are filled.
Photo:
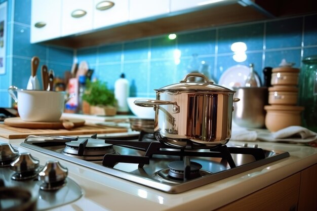
[[101, 139], [78, 139], [66, 142], [62, 153], [83, 160], [102, 160], [105, 154], [114, 154], [112, 144], [106, 144]]

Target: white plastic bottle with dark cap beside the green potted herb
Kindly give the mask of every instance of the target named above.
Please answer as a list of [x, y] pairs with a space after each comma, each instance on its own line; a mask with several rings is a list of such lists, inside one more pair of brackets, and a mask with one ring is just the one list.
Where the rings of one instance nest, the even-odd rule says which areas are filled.
[[120, 78], [114, 82], [114, 97], [117, 101], [117, 113], [127, 114], [129, 112], [127, 98], [130, 93], [129, 81], [122, 73]]

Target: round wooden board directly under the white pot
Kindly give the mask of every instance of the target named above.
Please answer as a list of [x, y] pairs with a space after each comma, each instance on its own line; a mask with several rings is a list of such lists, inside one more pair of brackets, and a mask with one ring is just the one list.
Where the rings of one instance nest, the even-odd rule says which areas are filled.
[[20, 117], [6, 118], [4, 123], [17, 128], [28, 129], [64, 129], [63, 121], [66, 123], [72, 123], [73, 128], [83, 126], [85, 124], [84, 119], [64, 119], [53, 122], [41, 122], [41, 121], [23, 121]]

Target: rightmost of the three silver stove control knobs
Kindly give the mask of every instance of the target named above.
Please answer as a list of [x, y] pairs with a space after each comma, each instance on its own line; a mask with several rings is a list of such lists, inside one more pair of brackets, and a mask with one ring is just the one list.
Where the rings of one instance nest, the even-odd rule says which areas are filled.
[[42, 190], [57, 190], [65, 185], [68, 170], [57, 160], [46, 162], [43, 170], [38, 173], [38, 179], [42, 181]]

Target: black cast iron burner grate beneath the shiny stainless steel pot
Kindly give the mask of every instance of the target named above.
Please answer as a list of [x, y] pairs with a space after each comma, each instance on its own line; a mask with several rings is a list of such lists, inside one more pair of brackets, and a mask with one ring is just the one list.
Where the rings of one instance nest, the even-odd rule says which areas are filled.
[[[181, 163], [178, 165], [182, 165], [183, 169], [181, 170], [177, 167], [178, 171], [181, 171], [181, 174], [175, 174], [173, 171], [173, 167], [170, 166], [169, 176], [177, 179], [182, 179], [184, 181], [189, 179], [194, 179], [199, 176], [198, 173], [193, 174], [193, 170], [191, 165], [193, 162], [190, 161], [190, 157], [217, 157], [225, 159], [230, 168], [236, 167], [234, 160], [231, 156], [232, 154], [249, 154], [252, 155], [255, 160], [260, 160], [265, 158], [265, 154], [263, 149], [261, 148], [238, 148], [238, 147], [227, 147], [226, 145], [217, 146], [216, 148], [210, 149], [210, 151], [202, 152], [197, 150], [190, 150], [190, 149], [182, 149], [171, 147], [165, 144], [162, 144], [158, 141], [153, 142], [130, 142], [130, 141], [120, 141], [120, 140], [105, 140], [105, 143], [120, 145], [125, 147], [131, 147], [134, 149], [146, 151], [144, 156], [136, 156], [136, 155], [121, 155], [121, 154], [106, 154], [102, 160], [102, 165], [106, 167], [114, 167], [115, 164], [124, 162], [124, 163], [138, 163], [138, 167], [142, 168], [145, 164], [149, 164], [150, 158], [153, 155], [170, 155], [170, 156], [178, 156]], [[171, 150], [172, 149], [172, 150]], [[174, 149], [174, 150], [173, 150]], [[197, 163], [199, 164], [199, 163]], [[200, 165], [200, 164], [199, 164]]]

